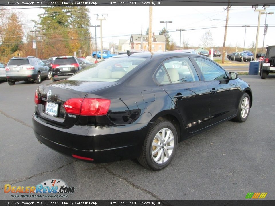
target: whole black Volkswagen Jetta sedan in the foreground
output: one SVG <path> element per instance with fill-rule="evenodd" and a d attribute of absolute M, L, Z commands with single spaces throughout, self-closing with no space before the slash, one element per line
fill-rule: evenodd
<path fill-rule="evenodd" d="M 105 163 L 137 158 L 166 167 L 178 142 L 252 105 L 248 83 L 201 55 L 134 53 L 108 58 L 35 92 L 34 134 L 74 158 Z"/>

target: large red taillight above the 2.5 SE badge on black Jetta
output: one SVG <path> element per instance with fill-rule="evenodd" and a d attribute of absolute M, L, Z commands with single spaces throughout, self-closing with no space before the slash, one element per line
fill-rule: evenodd
<path fill-rule="evenodd" d="M 106 115 L 111 100 L 97 98 L 72 98 L 64 103 L 67 113 L 84 116 Z"/>

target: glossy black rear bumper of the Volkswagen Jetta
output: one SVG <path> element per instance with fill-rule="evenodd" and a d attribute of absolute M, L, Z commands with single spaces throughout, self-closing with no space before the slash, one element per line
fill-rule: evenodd
<path fill-rule="evenodd" d="M 92 158 L 91 163 L 134 159 L 140 155 L 148 124 L 125 126 L 73 126 L 62 129 L 33 117 L 34 134 L 46 146 L 72 157 Z M 92 131 L 93 130 L 93 131 Z M 94 134 L 94 135 L 89 135 Z M 97 134 L 97 135 L 95 135 Z"/>

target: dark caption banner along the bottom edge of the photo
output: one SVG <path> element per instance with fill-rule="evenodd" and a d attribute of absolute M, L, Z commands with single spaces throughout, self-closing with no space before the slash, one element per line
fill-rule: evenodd
<path fill-rule="evenodd" d="M 0 200 L 0 205 L 274 206 L 275 200 Z"/>

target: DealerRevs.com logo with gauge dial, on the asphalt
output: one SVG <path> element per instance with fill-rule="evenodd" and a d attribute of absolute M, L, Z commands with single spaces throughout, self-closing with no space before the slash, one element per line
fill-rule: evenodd
<path fill-rule="evenodd" d="M 4 193 L 11 193 L 12 198 L 66 198 L 74 193 L 74 187 L 68 187 L 60 179 L 48 179 L 36 186 L 4 186 Z"/>

